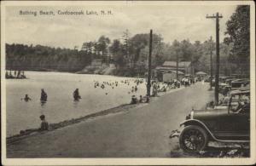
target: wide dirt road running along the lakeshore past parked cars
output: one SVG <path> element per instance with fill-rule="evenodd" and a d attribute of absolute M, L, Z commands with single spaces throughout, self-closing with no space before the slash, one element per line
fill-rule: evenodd
<path fill-rule="evenodd" d="M 7 146 L 7 157 L 177 157 L 169 139 L 191 108 L 210 100 L 208 84 L 196 83 L 129 112 L 97 117 Z"/>

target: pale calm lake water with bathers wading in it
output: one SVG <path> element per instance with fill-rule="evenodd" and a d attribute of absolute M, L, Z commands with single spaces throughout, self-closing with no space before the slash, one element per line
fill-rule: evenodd
<path fill-rule="evenodd" d="M 129 103 L 131 95 L 146 94 L 146 83 L 138 85 L 131 93 L 135 78 L 102 75 L 83 75 L 64 72 L 25 72 L 28 79 L 6 80 L 7 136 L 16 135 L 20 130 L 39 128 L 39 116 L 44 114 L 49 123 L 82 117 L 114 106 Z M 121 81 L 130 80 L 130 85 Z M 118 87 L 95 88 L 99 83 L 118 81 Z M 41 89 L 48 94 L 44 106 L 40 103 Z M 82 99 L 73 101 L 73 91 L 79 89 Z M 108 93 L 108 94 L 106 94 Z M 20 100 L 28 94 L 28 102 Z"/>

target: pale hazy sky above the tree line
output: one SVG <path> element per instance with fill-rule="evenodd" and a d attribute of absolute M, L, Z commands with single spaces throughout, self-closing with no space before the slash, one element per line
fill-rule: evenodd
<path fill-rule="evenodd" d="M 53 11 L 55 15 L 20 14 L 22 11 Z M 61 15 L 57 11 L 84 11 L 84 15 Z M 112 14 L 100 14 L 101 10 Z M 226 21 L 236 5 L 73 5 L 73 6 L 9 6 L 5 9 L 6 43 L 41 44 L 50 47 L 73 49 L 82 43 L 96 41 L 102 35 L 121 39 L 128 29 L 130 37 L 137 33 L 160 34 L 165 43 L 177 39 L 204 42 L 215 40 L 214 19 L 206 15 L 223 15 L 220 19 L 220 41 L 224 38 Z M 96 11 L 96 14 L 86 14 Z"/>

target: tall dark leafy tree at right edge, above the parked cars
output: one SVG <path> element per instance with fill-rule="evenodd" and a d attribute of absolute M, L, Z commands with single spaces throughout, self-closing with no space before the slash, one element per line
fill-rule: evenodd
<path fill-rule="evenodd" d="M 230 20 L 226 22 L 228 37 L 224 38 L 224 43 L 231 44 L 229 60 L 236 63 L 241 74 L 249 72 L 250 62 L 250 6 L 240 5 L 236 8 L 236 13 L 232 14 Z"/>

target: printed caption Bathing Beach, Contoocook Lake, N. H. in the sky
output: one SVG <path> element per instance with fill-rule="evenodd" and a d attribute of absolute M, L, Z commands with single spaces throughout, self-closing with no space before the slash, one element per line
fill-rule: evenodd
<path fill-rule="evenodd" d="M 111 10 L 19 10 L 20 15 L 111 15 Z"/>

